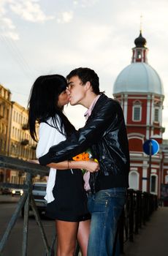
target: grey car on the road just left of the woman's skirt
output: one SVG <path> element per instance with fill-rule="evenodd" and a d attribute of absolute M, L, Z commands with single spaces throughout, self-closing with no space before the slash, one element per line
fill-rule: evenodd
<path fill-rule="evenodd" d="M 33 184 L 32 194 L 34 196 L 34 201 L 36 203 L 39 214 L 45 213 L 46 211 L 47 201 L 44 198 L 46 195 L 46 187 L 47 187 L 47 182 L 36 182 Z M 30 211 L 32 210 L 31 206 L 29 210 Z M 22 208 L 22 217 L 23 216 L 24 216 L 24 207 Z"/>

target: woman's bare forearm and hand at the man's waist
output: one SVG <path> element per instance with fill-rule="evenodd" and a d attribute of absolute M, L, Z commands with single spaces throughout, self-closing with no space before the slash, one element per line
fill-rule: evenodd
<path fill-rule="evenodd" d="M 66 169 L 85 169 L 91 173 L 99 170 L 99 163 L 93 160 L 88 161 L 64 161 L 58 163 L 50 163 L 47 165 L 50 168 L 66 170 Z"/>

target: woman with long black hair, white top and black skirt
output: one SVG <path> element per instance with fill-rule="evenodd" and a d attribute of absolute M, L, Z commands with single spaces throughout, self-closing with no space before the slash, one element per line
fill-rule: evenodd
<path fill-rule="evenodd" d="M 61 75 L 44 75 L 35 80 L 28 101 L 28 126 L 31 137 L 37 141 L 37 158 L 50 146 L 65 140 L 75 128 L 64 115 L 69 102 L 66 79 Z M 93 161 L 52 163 L 47 181 L 47 216 L 56 219 L 57 256 L 72 256 L 76 239 L 83 256 L 87 255 L 90 214 L 83 189 L 83 173 L 79 168 L 94 172 L 99 164 Z"/>

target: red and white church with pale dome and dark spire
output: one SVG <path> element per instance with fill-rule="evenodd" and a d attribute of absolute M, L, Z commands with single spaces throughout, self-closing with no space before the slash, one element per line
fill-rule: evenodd
<path fill-rule="evenodd" d="M 131 189 L 161 197 L 161 187 L 168 184 L 168 144 L 163 140 L 162 110 L 164 86 L 158 72 L 148 64 L 146 39 L 134 40 L 131 64 L 118 75 L 113 97 L 120 102 L 129 139 Z M 156 140 L 159 151 L 152 157 L 145 154 L 146 140 Z"/>

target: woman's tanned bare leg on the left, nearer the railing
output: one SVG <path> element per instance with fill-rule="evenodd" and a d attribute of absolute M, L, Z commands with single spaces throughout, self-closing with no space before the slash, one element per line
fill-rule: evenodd
<path fill-rule="evenodd" d="M 56 256 L 73 256 L 75 253 L 79 222 L 56 220 L 57 252 Z"/>

